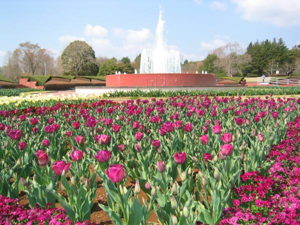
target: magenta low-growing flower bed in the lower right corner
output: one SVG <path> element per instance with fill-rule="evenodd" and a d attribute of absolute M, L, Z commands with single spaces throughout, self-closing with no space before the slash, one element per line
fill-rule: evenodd
<path fill-rule="evenodd" d="M 233 191 L 233 207 L 225 208 L 220 224 L 299 224 L 300 220 L 300 118 L 288 123 L 287 139 L 268 155 L 274 164 L 263 175 L 241 175 Z"/>

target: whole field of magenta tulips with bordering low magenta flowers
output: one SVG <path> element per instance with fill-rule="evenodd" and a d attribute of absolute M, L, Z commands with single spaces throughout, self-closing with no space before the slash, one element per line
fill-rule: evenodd
<path fill-rule="evenodd" d="M 299 224 L 300 98 L 51 102 L 1 105 L 0 224 Z"/>

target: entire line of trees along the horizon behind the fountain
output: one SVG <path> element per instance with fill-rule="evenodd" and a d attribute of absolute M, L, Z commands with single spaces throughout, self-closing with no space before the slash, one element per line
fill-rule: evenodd
<path fill-rule="evenodd" d="M 192 66 L 189 66 L 192 65 Z M 194 67 L 199 72 L 218 76 L 260 76 L 277 70 L 285 75 L 300 73 L 300 44 L 289 49 L 282 38 L 270 41 L 250 42 L 246 49 L 230 42 L 213 49 L 202 63 L 182 63 L 184 68 Z M 201 65 L 200 65 L 201 64 Z M 115 71 L 133 73 L 139 70 L 140 54 L 133 61 L 129 57 L 95 57 L 95 52 L 84 41 L 70 42 L 56 58 L 53 53 L 38 44 L 20 43 L 12 52 L 7 51 L 0 75 L 17 80 L 20 75 L 107 75 Z"/>

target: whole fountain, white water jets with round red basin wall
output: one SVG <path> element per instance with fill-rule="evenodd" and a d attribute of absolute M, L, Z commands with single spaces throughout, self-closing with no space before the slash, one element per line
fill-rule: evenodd
<path fill-rule="evenodd" d="M 179 51 L 168 47 L 164 37 L 164 20 L 159 10 L 152 48 L 143 49 L 140 73 L 106 75 L 106 87 L 198 87 L 215 86 L 215 74 L 181 73 Z"/>

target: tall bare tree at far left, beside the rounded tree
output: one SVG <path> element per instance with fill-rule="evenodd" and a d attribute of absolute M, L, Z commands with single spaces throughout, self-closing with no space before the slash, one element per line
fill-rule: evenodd
<path fill-rule="evenodd" d="M 28 66 L 29 70 L 32 72 L 32 75 L 34 75 L 34 72 L 40 63 L 40 46 L 38 44 L 32 44 L 27 41 L 24 43 L 20 43 L 18 50 L 23 59 L 24 65 Z"/>

